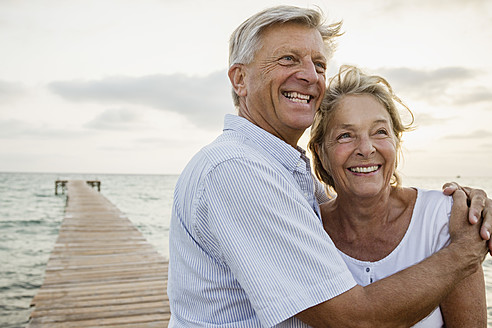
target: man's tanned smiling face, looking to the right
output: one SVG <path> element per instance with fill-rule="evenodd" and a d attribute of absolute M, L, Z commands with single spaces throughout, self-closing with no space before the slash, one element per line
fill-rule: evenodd
<path fill-rule="evenodd" d="M 244 67 L 246 96 L 239 114 L 295 146 L 325 93 L 324 43 L 316 29 L 295 23 L 270 26 L 261 40 Z"/>

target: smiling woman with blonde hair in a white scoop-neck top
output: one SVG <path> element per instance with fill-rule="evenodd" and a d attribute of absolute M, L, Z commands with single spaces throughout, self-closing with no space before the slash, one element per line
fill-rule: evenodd
<path fill-rule="evenodd" d="M 321 205 L 325 230 L 362 286 L 449 241 L 452 198 L 402 187 L 396 173 L 401 136 L 410 128 L 397 105 L 411 114 L 385 79 L 344 66 L 330 81 L 308 145 L 316 175 L 337 194 Z M 485 303 L 480 270 L 415 327 L 486 327 Z"/>

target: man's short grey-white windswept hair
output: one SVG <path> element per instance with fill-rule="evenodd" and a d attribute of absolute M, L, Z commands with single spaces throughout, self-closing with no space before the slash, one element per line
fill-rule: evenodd
<path fill-rule="evenodd" d="M 229 42 L 229 68 L 235 64 L 249 64 L 261 47 L 261 33 L 275 24 L 297 23 L 315 28 L 325 42 L 326 57 L 335 50 L 334 39 L 341 35 L 341 22 L 325 25 L 322 11 L 294 6 L 277 6 L 265 9 L 245 20 L 232 33 Z M 234 105 L 239 106 L 239 97 L 232 92 Z"/>

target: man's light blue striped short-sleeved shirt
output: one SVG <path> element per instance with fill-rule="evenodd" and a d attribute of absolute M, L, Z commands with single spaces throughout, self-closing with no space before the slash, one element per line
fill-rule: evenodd
<path fill-rule="evenodd" d="M 297 313 L 354 287 L 316 186 L 303 152 L 227 115 L 176 185 L 169 327 L 306 327 Z"/>

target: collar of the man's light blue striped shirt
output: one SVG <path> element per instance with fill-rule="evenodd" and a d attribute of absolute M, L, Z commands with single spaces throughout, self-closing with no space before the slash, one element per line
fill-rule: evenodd
<path fill-rule="evenodd" d="M 254 144 L 266 150 L 290 172 L 305 172 L 310 169 L 309 159 L 304 149 L 299 146 L 293 148 L 282 139 L 263 130 L 244 117 L 227 114 L 224 119 L 224 131 L 226 130 L 233 130 L 244 135 Z"/>

